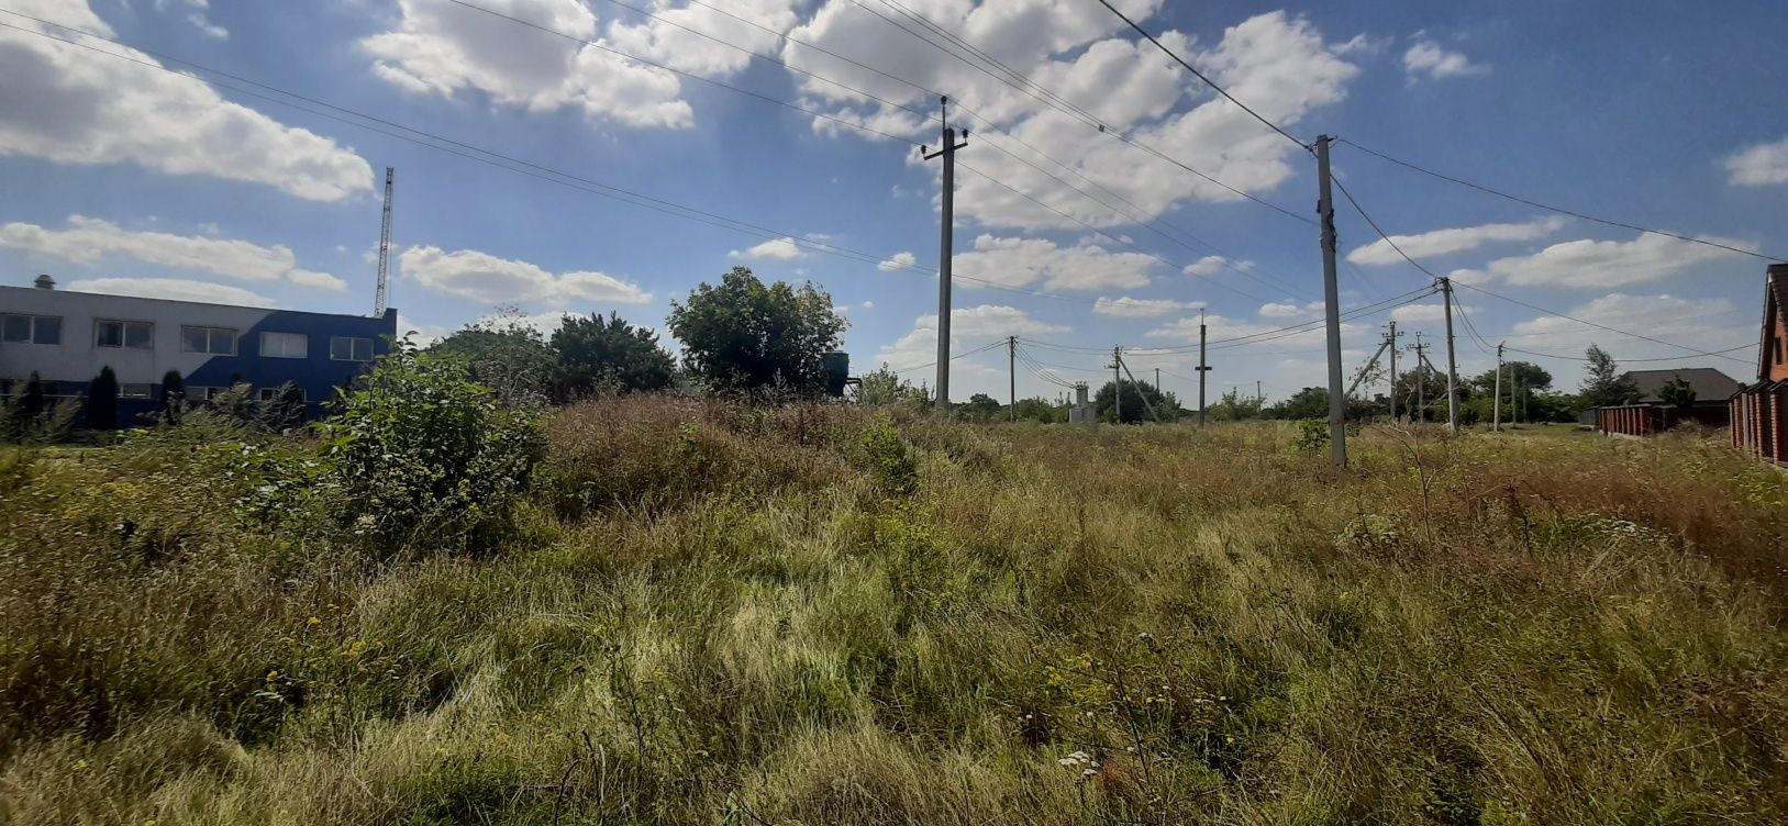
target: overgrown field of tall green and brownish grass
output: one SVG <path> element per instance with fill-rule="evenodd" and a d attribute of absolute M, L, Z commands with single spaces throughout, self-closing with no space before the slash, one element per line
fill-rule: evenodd
<path fill-rule="evenodd" d="M 477 554 L 0 456 L 0 821 L 1788 819 L 1788 477 L 1722 434 L 547 431 Z"/>

